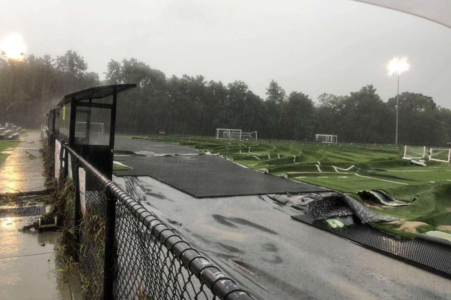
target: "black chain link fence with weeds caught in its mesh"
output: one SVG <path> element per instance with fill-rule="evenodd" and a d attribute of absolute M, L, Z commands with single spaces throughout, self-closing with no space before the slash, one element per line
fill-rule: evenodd
<path fill-rule="evenodd" d="M 54 151 L 57 138 L 47 134 Z M 65 154 L 55 167 L 66 176 L 70 165 L 76 183 L 74 216 L 66 216 L 65 222 L 76 229 L 86 299 L 252 299 L 176 231 L 61 145 Z M 86 172 L 84 212 L 79 168 Z"/>

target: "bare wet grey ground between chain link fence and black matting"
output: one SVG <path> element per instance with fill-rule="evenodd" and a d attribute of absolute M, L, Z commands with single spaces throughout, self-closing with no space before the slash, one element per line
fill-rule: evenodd
<path fill-rule="evenodd" d="M 291 220 L 303 197 L 199 199 L 150 177 L 114 180 L 257 298 L 451 298 L 446 278 Z"/>

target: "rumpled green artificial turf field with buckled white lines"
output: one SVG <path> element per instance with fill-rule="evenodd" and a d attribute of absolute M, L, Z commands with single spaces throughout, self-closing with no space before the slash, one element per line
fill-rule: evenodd
<path fill-rule="evenodd" d="M 387 233 L 413 238 L 427 231 L 451 233 L 451 167 L 402 159 L 404 148 L 375 144 L 326 144 L 275 140 L 224 140 L 204 137 L 137 137 L 217 154 L 248 168 L 346 193 L 372 211 L 397 217 L 371 224 Z M 362 201 L 357 192 L 382 190 L 405 206 Z"/>

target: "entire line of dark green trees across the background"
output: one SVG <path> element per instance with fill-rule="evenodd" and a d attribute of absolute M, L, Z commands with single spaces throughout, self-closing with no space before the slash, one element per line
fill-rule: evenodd
<path fill-rule="evenodd" d="M 111 60 L 102 81 L 87 69 L 83 57 L 70 50 L 56 59 L 0 59 L 0 123 L 37 127 L 66 93 L 136 83 L 137 88 L 119 97 L 117 132 L 213 136 L 215 128 L 231 128 L 257 131 L 267 139 L 311 141 L 315 134 L 334 134 L 341 142 L 395 140 L 396 95 L 384 102 L 373 85 L 349 95 L 324 93 L 315 103 L 301 91 L 286 93 L 274 80 L 263 99 L 241 80 L 223 84 L 202 75 L 167 77 L 134 58 Z M 450 135 L 449 109 L 421 93 L 400 94 L 399 143 L 444 146 Z"/>

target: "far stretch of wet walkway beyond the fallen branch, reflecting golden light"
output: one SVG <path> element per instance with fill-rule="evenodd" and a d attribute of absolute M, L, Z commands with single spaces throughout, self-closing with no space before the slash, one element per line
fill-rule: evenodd
<path fill-rule="evenodd" d="M 45 190 L 43 165 L 40 159 L 41 148 L 40 131 L 33 130 L 21 135 L 21 140 L 31 143 L 18 143 L 13 150 L 6 150 L 10 154 L 0 165 L 0 194 L 19 191 Z"/>

